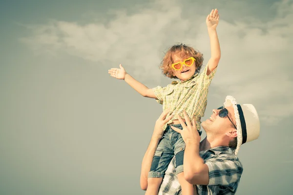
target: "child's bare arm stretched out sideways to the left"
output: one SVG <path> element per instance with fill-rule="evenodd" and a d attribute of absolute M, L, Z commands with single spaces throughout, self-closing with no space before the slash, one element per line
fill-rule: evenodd
<path fill-rule="evenodd" d="M 126 73 L 125 69 L 120 64 L 120 68 L 111 68 L 108 70 L 108 73 L 117 79 L 123 79 L 126 83 L 128 83 L 135 91 L 137 91 L 140 95 L 147 98 L 157 98 L 153 89 L 149 89 L 139 81 L 135 80 L 128 73 Z"/>

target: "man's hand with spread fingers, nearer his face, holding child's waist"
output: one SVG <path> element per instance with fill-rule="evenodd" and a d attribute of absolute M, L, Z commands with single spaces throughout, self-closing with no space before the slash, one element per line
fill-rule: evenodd
<path fill-rule="evenodd" d="M 181 134 L 184 142 L 186 144 L 199 144 L 200 142 L 200 136 L 198 134 L 198 131 L 197 131 L 197 128 L 196 128 L 196 121 L 195 121 L 195 118 L 192 119 L 192 123 L 190 122 L 189 120 L 189 117 L 187 115 L 187 113 L 184 111 L 183 112 L 183 115 L 184 115 L 184 118 L 185 118 L 185 121 L 186 121 L 186 124 L 185 122 L 182 120 L 182 118 L 180 116 L 178 116 L 178 120 L 180 122 L 180 124 L 182 125 L 183 127 L 183 130 L 180 130 L 174 126 L 171 126 L 171 128 L 178 132 L 179 134 Z"/>

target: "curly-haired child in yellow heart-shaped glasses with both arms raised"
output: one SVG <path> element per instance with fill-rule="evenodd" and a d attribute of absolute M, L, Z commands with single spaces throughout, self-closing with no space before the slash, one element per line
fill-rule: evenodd
<path fill-rule="evenodd" d="M 207 16 L 211 58 L 203 73 L 199 74 L 202 66 L 202 54 L 193 48 L 180 44 L 172 46 L 166 53 L 161 69 L 168 78 L 178 78 L 180 81 L 173 81 L 167 87 L 147 88 L 130 75 L 120 64 L 120 69 L 112 68 L 109 74 L 118 79 L 124 79 L 133 89 L 144 97 L 155 98 L 163 104 L 163 110 L 170 109 L 167 117 L 172 118 L 164 126 L 164 136 L 160 140 L 152 160 L 150 172 L 147 179 L 146 195 L 157 195 L 163 180 L 167 166 L 175 155 L 176 174 L 182 188 L 183 195 L 193 195 L 193 186 L 184 179 L 183 156 L 185 143 L 180 134 L 175 132 L 171 126 L 181 128 L 178 115 L 184 118 L 183 111 L 186 111 L 189 119 L 196 118 L 196 126 L 200 130 L 200 119 L 204 116 L 207 106 L 208 88 L 213 78 L 216 67 L 220 60 L 221 52 L 217 37 L 216 27 L 218 25 L 218 10 L 211 10 Z M 201 132 L 199 131 L 201 134 Z"/>

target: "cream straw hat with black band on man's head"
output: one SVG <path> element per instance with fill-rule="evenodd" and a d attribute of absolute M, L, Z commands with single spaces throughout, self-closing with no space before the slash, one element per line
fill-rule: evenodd
<path fill-rule="evenodd" d="M 240 145 L 257 139 L 260 132 L 259 117 L 252 104 L 239 105 L 232 96 L 227 96 L 224 106 L 233 106 L 237 127 L 237 147 L 234 151 L 238 154 Z"/>

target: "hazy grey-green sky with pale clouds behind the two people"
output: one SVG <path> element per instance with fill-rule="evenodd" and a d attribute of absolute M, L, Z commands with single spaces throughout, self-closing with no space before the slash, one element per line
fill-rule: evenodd
<path fill-rule="evenodd" d="M 213 8 L 221 59 L 203 120 L 227 95 L 252 103 L 261 130 L 240 148 L 237 194 L 291 194 L 293 0 L 2 0 L 0 194 L 144 195 L 162 106 L 107 71 L 122 63 L 149 88 L 166 86 L 159 64 L 181 42 L 206 65 Z"/>

